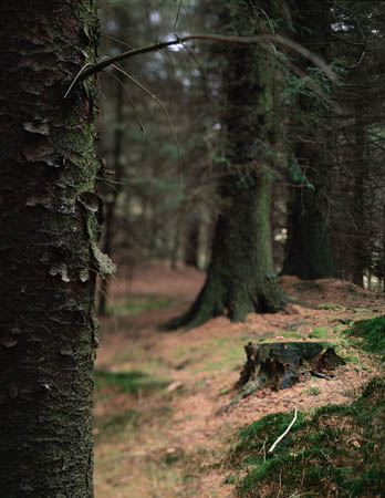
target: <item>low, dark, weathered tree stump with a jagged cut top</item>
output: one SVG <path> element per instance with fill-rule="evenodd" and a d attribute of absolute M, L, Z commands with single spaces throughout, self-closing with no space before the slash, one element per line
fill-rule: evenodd
<path fill-rule="evenodd" d="M 244 351 L 247 362 L 236 384 L 244 394 L 260 387 L 287 390 L 309 375 L 327 378 L 345 363 L 327 342 L 249 342 Z"/>

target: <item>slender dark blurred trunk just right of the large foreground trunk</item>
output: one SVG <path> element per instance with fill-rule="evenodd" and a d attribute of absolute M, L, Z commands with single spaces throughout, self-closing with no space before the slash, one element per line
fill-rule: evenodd
<path fill-rule="evenodd" d="M 117 83 L 117 95 L 116 95 L 116 108 L 115 108 L 115 136 L 114 136 L 114 172 L 115 172 L 115 184 L 112 191 L 112 199 L 106 203 L 106 212 L 104 220 L 104 245 L 103 251 L 111 256 L 113 250 L 113 237 L 114 237 L 114 222 L 115 222 L 115 210 L 116 200 L 121 191 L 121 179 L 123 174 L 123 167 L 121 162 L 122 145 L 123 145 L 123 114 L 124 114 L 124 95 L 123 86 Z M 108 283 L 110 278 L 106 276 L 101 281 L 101 292 L 98 298 L 98 313 L 104 314 L 106 312 L 107 295 L 108 295 Z"/>

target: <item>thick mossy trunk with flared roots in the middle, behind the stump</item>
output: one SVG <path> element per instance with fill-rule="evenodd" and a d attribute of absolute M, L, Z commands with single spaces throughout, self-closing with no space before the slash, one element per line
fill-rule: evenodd
<path fill-rule="evenodd" d="M 231 4 L 230 4 L 231 3 Z M 249 34 L 254 9 L 229 2 L 225 17 L 237 34 Z M 283 307 L 272 260 L 270 201 L 273 165 L 271 60 L 252 46 L 223 46 L 226 165 L 219 185 L 218 217 L 207 279 L 190 310 L 166 328 L 196 326 L 227 314 L 241 321 L 250 312 Z"/>

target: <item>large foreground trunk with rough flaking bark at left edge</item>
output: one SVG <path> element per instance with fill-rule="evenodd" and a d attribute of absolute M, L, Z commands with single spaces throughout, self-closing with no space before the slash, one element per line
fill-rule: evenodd
<path fill-rule="evenodd" d="M 91 498 L 94 0 L 0 3 L 0 494 Z"/>

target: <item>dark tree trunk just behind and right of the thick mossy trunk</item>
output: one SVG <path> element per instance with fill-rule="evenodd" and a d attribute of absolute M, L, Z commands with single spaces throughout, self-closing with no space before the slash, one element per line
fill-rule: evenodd
<path fill-rule="evenodd" d="M 299 7 L 291 4 L 292 23 L 296 42 L 329 60 L 327 35 L 331 30 L 327 3 L 320 0 Z M 303 62 L 300 62 L 300 65 Z M 309 65 L 309 64 L 308 64 Z M 304 66 L 303 71 L 313 69 Z M 322 81 L 321 81 L 322 82 Z M 293 144 L 299 166 L 312 188 L 294 188 L 289 216 L 289 237 L 282 274 L 295 274 L 302 279 L 335 277 L 336 267 L 331 239 L 331 199 L 327 196 L 325 136 L 322 126 L 323 107 L 316 95 L 299 93 L 295 111 L 300 139 Z M 314 125 L 315 123 L 315 125 Z"/>

